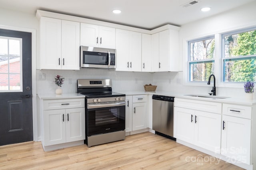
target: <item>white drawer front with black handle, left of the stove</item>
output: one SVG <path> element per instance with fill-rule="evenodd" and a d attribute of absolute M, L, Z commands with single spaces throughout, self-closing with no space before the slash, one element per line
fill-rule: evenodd
<path fill-rule="evenodd" d="M 44 100 L 44 110 L 84 107 L 84 98 Z"/>

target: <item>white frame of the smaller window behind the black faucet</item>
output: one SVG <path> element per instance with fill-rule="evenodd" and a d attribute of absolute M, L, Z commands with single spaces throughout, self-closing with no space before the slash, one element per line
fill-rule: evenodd
<path fill-rule="evenodd" d="M 203 41 L 203 40 L 208 40 L 208 39 L 216 39 L 215 38 L 215 34 L 214 35 L 209 35 L 209 36 L 206 36 L 206 37 L 201 37 L 201 38 L 198 38 L 198 39 L 193 39 L 193 40 L 190 40 L 190 41 L 187 41 L 187 47 L 188 47 L 188 55 L 187 55 L 187 61 L 188 61 L 188 64 L 187 64 L 187 82 L 188 83 L 205 83 L 207 81 L 191 81 L 191 73 L 190 73 L 190 64 L 191 63 L 194 63 L 194 64 L 198 64 L 198 63 L 215 63 L 215 60 L 216 60 L 216 57 L 214 56 L 213 59 L 203 59 L 203 60 L 197 60 L 197 61 L 191 61 L 191 43 L 194 43 L 194 42 L 198 42 L 198 41 Z M 214 47 L 214 51 L 216 49 L 216 41 L 215 41 L 215 47 Z M 215 52 L 214 52 L 215 53 Z M 215 53 L 216 55 L 216 53 Z M 215 64 L 214 64 L 214 70 L 215 69 Z"/>

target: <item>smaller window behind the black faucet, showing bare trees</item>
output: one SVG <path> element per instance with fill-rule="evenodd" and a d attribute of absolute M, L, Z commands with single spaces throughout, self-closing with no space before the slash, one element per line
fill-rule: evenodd
<path fill-rule="evenodd" d="M 189 81 L 208 81 L 214 74 L 214 36 L 188 42 Z"/>

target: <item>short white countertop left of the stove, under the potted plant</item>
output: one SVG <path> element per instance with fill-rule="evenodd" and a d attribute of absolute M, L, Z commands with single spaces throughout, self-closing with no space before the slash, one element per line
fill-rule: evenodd
<path fill-rule="evenodd" d="M 78 93 L 63 93 L 63 94 L 37 94 L 39 99 L 71 99 L 71 98 L 85 98 L 84 95 Z"/>

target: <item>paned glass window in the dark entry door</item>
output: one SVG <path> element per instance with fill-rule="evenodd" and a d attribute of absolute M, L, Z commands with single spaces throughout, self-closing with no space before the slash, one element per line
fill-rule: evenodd
<path fill-rule="evenodd" d="M 21 90 L 22 39 L 0 36 L 0 92 Z"/>

